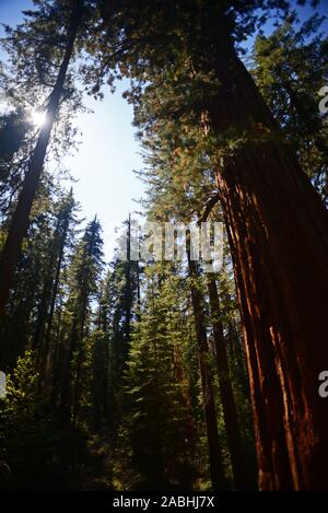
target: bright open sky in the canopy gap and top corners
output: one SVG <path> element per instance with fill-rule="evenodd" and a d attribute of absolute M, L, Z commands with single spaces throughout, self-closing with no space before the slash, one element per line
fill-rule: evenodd
<path fill-rule="evenodd" d="M 15 25 L 22 19 L 21 11 L 32 4 L 32 0 L 0 0 L 0 23 Z M 328 0 L 321 0 L 321 13 L 328 14 L 327 5 Z M 300 8 L 302 19 L 309 12 L 308 7 Z M 325 27 L 327 30 L 327 23 Z M 83 132 L 82 143 L 79 152 L 63 162 L 78 179 L 73 188 L 82 215 L 90 220 L 97 214 L 102 222 L 107 259 L 110 259 L 115 246 L 115 228 L 121 225 L 129 212 L 139 210 L 133 199 L 140 198 L 143 191 L 141 182 L 132 172 L 140 170 L 142 162 L 131 126 L 132 107 L 121 97 L 124 89 L 122 82 L 115 94 L 105 90 L 102 102 L 85 96 L 84 105 L 93 113 L 78 116 L 77 124 Z"/>

